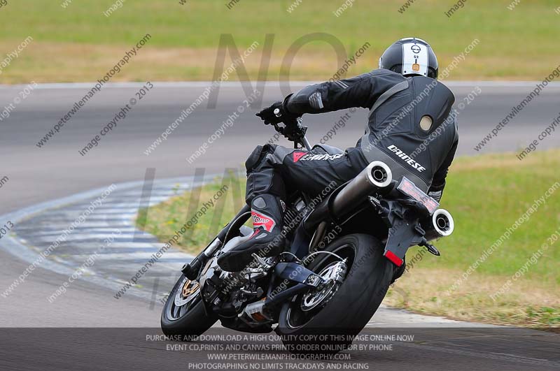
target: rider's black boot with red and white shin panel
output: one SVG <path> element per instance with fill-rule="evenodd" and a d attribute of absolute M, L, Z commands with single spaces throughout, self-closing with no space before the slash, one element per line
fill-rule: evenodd
<path fill-rule="evenodd" d="M 229 272 L 239 272 L 260 257 L 276 256 L 283 251 L 286 236 L 282 233 L 284 206 L 279 197 L 263 194 L 253 198 L 253 235 L 218 257 L 218 265 Z"/>

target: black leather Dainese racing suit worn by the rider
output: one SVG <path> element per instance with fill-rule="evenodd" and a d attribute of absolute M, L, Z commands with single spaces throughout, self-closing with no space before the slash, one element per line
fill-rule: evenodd
<path fill-rule="evenodd" d="M 325 145 L 309 152 L 258 146 L 246 161 L 246 201 L 260 194 L 282 199 L 294 189 L 319 194 L 332 181 L 343 184 L 376 160 L 387 163 L 395 179 L 406 175 L 423 191 L 437 194 L 458 144 L 456 123 L 449 115 L 454 100 L 441 82 L 385 69 L 304 87 L 284 100 L 288 112 L 368 108 L 364 136 L 344 152 Z"/>

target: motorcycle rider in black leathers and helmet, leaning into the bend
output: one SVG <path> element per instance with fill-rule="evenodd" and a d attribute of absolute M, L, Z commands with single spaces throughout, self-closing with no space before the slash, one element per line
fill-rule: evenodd
<path fill-rule="evenodd" d="M 307 151 L 269 144 L 253 150 L 245 165 L 246 202 L 251 205 L 254 232 L 222 254 L 218 265 L 235 272 L 251 263 L 255 253 L 276 256 L 282 252 L 286 194 L 295 189 L 320 194 L 333 180 L 344 184 L 356 177 L 371 161 L 384 161 L 395 179 L 405 175 L 440 201 L 458 133 L 454 117 L 449 115 L 455 97 L 437 82 L 437 72 L 437 58 L 426 41 L 402 38 L 381 55 L 379 69 L 304 87 L 258 112 L 265 124 L 278 124 L 304 113 L 357 107 L 370 110 L 365 134 L 356 147 L 346 151 L 328 145 Z M 275 115 L 276 109 L 280 117 Z M 426 140 L 429 145 L 419 151 Z"/>

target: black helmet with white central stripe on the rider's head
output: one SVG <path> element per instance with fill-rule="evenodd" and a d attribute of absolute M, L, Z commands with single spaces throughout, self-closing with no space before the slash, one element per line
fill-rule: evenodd
<path fill-rule="evenodd" d="M 420 38 L 401 38 L 393 43 L 379 58 L 379 68 L 437 79 L 437 58 L 430 44 Z"/>

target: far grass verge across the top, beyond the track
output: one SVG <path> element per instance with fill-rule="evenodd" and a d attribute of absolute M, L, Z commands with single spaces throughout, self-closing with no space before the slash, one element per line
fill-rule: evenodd
<path fill-rule="evenodd" d="M 267 80 L 288 75 L 282 68 L 286 51 L 302 36 L 314 33 L 335 36 L 346 57 L 370 43 L 347 75 L 370 71 L 381 52 L 405 36 L 430 41 L 440 66 L 449 65 L 479 39 L 475 50 L 452 71 L 453 80 L 542 80 L 558 65 L 549 48 L 556 44 L 551 30 L 557 29 L 559 20 L 558 4 L 552 0 L 524 1 L 514 10 L 507 9 L 510 0 L 469 0 L 451 17 L 445 13 L 454 3 L 436 0 L 412 3 L 405 10 L 404 0 L 353 1 L 338 14 L 343 0 L 303 1 L 291 12 L 292 0 L 240 0 L 231 9 L 223 0 L 184 5 L 135 0 L 123 2 L 107 17 L 104 12 L 113 3 L 8 1 L 0 10 L 1 59 L 27 36 L 34 40 L 3 68 L 1 82 L 97 80 L 146 33 L 153 36 L 151 41 L 113 81 L 211 80 L 222 34 L 231 34 L 241 51 L 255 41 L 260 44 L 246 60 L 251 79 L 258 76 L 267 34 L 272 42 Z M 312 41 L 297 51 L 289 76 L 328 80 L 338 67 L 332 43 Z"/>

